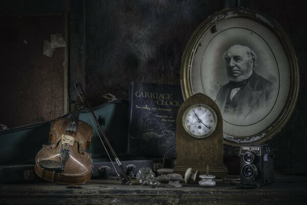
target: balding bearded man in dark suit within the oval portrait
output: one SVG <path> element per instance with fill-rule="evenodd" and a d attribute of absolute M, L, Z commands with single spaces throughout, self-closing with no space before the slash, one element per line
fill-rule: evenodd
<path fill-rule="evenodd" d="M 223 55 L 229 83 L 220 88 L 215 102 L 223 119 L 248 125 L 265 117 L 274 106 L 277 88 L 255 71 L 255 52 L 247 46 L 231 46 Z"/>

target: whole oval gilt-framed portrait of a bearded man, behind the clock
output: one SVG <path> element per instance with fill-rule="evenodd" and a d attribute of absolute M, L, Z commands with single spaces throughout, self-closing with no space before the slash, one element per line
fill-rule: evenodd
<path fill-rule="evenodd" d="M 220 108 L 224 144 L 272 138 L 289 120 L 298 96 L 293 46 L 272 19 L 226 9 L 193 32 L 181 62 L 184 99 L 204 93 Z"/>

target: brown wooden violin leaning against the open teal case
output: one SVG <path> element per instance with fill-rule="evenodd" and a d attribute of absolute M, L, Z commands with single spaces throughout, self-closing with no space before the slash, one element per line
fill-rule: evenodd
<path fill-rule="evenodd" d="M 60 118 L 52 122 L 49 145 L 35 157 L 36 174 L 47 181 L 61 185 L 81 185 L 90 180 L 93 169 L 90 148 L 93 128 L 79 120 L 82 97 L 77 96 L 70 118 Z"/>

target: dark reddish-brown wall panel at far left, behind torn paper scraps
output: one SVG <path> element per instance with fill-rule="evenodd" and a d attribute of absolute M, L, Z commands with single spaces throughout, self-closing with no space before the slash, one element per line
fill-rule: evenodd
<path fill-rule="evenodd" d="M 50 34 L 65 36 L 68 1 L 0 1 L 0 124 L 37 124 L 65 114 L 66 48 L 43 55 Z"/>

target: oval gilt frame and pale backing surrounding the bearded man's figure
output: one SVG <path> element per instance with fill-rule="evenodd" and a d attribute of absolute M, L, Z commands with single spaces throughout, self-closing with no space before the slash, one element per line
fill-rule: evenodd
<path fill-rule="evenodd" d="M 274 20 L 250 9 L 225 9 L 196 28 L 186 45 L 181 61 L 184 99 L 201 92 L 215 100 L 228 81 L 222 55 L 233 45 L 252 48 L 259 64 L 255 72 L 276 88 L 272 106 L 263 113 L 256 110 L 248 120 L 222 112 L 224 144 L 239 147 L 264 142 L 286 125 L 298 97 L 299 68 L 290 39 Z"/>

